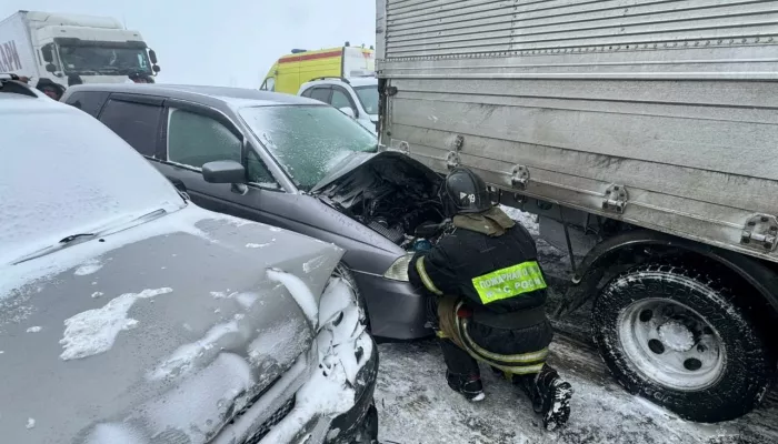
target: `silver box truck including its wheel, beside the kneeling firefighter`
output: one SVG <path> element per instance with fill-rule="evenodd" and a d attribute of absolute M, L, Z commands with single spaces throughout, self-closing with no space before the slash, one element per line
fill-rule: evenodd
<path fill-rule="evenodd" d="M 717 422 L 776 373 L 778 1 L 377 0 L 380 144 L 540 216 L 556 315 Z"/>

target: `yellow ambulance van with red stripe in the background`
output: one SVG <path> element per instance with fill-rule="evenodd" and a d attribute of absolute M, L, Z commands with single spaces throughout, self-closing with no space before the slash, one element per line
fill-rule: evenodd
<path fill-rule="evenodd" d="M 262 85 L 265 91 L 297 94 L 302 83 L 325 78 L 375 75 L 376 56 L 372 47 L 350 47 L 307 51 L 295 49 L 270 68 Z"/>

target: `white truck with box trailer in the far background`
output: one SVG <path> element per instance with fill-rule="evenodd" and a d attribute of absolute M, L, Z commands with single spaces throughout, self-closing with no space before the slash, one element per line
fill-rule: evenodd
<path fill-rule="evenodd" d="M 159 70 L 141 34 L 116 19 L 19 11 L 0 21 L 0 72 L 31 84 L 120 83 Z"/>

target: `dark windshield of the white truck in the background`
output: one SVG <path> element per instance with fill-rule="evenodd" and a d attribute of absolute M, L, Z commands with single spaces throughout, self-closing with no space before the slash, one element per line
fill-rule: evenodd
<path fill-rule="evenodd" d="M 146 50 L 140 48 L 61 46 L 59 54 L 67 73 L 151 74 Z"/>

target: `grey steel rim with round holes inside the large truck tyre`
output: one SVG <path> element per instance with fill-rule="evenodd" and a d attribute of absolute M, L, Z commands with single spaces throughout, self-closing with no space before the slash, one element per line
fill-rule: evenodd
<path fill-rule="evenodd" d="M 726 349 L 716 329 L 685 304 L 645 299 L 619 315 L 627 357 L 646 379 L 668 389 L 699 391 L 724 375 Z"/>

